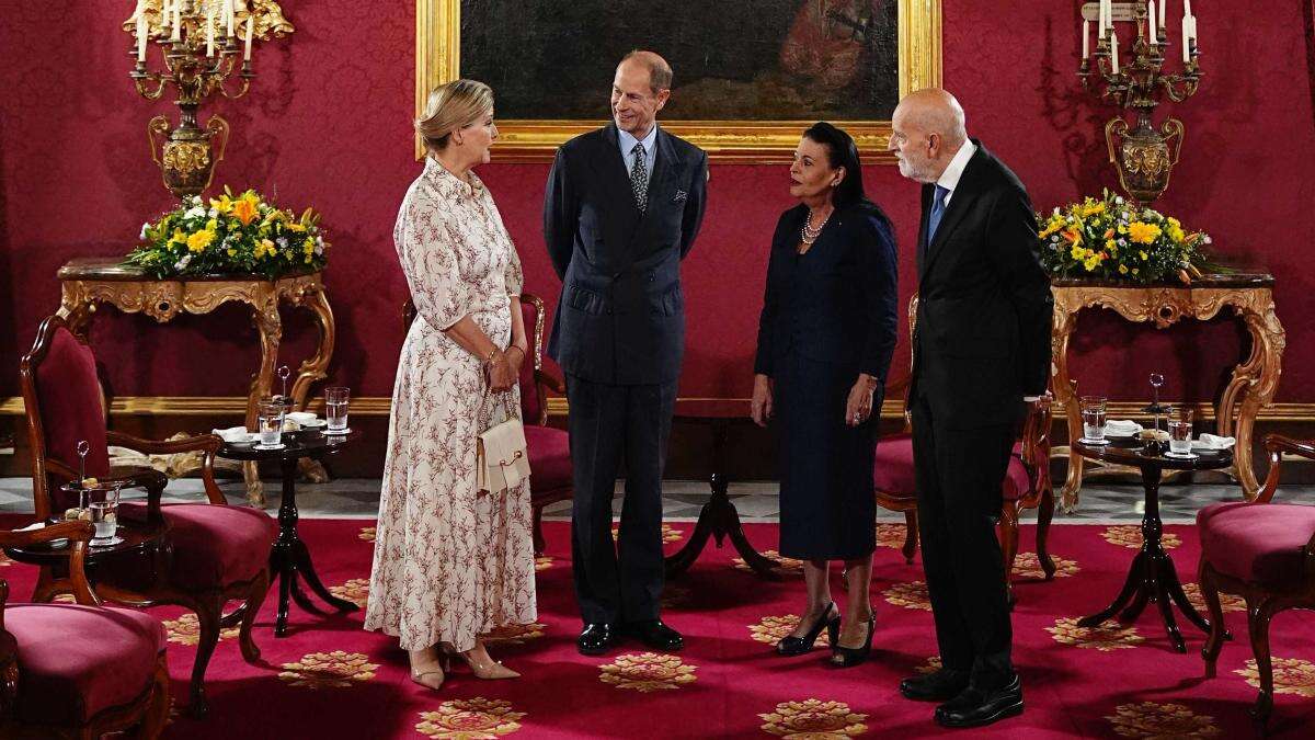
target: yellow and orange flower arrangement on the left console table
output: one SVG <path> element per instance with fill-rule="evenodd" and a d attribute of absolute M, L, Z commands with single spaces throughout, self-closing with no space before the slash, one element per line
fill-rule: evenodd
<path fill-rule="evenodd" d="M 125 265 L 155 278 L 179 275 L 252 274 L 266 278 L 320 270 L 329 244 L 320 230 L 320 215 L 306 208 L 299 219 L 276 208 L 254 190 L 204 201 L 183 199 L 175 211 L 142 224 L 143 242 Z"/>

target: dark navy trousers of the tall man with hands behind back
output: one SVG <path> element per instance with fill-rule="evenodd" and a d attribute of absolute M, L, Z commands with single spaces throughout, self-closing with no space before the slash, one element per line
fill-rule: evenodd
<path fill-rule="evenodd" d="M 613 386 L 567 375 L 571 404 L 571 557 L 584 621 L 658 619 L 663 586 L 661 474 L 676 383 Z M 626 498 L 611 539 L 621 462 Z"/>

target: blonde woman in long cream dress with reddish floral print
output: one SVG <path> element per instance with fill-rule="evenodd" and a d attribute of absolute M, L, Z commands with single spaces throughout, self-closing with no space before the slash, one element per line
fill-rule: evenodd
<path fill-rule="evenodd" d="M 412 679 L 438 689 L 446 656 L 480 678 L 514 678 L 480 635 L 535 620 L 530 486 L 479 492 L 479 435 L 519 417 L 526 356 L 521 262 L 471 171 L 497 138 L 493 92 L 434 90 L 416 129 L 429 155 L 393 240 L 418 316 L 393 388 L 366 629 L 398 637 Z"/>

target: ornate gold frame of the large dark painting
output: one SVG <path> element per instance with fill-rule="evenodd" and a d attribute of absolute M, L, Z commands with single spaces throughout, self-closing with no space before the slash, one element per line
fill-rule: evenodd
<path fill-rule="evenodd" d="M 694 0 L 697 1 L 697 0 Z M 898 95 L 940 86 L 942 0 L 896 0 Z M 888 26 L 889 28 L 889 26 Z M 462 76 L 462 0 L 416 0 L 416 113 L 434 86 Z M 514 63 L 509 61 L 509 63 Z M 677 76 L 680 67 L 673 62 Z M 497 92 L 494 84 L 494 92 Z M 601 87 L 601 86 L 600 86 Z M 602 88 L 605 90 L 605 88 Z M 606 99 L 592 120 L 498 119 L 497 162 L 546 162 L 567 140 L 605 124 Z M 663 126 L 709 153 L 714 162 L 788 162 L 807 120 L 665 120 Z M 890 121 L 832 120 L 848 130 L 865 162 L 892 163 Z M 417 158 L 423 154 L 417 141 Z"/>

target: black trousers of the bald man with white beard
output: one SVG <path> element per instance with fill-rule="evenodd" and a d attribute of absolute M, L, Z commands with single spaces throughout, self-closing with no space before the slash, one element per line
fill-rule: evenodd
<path fill-rule="evenodd" d="M 945 668 L 994 689 L 1014 673 L 1005 564 L 995 539 L 1014 425 L 952 429 L 913 406 L 922 565 Z"/>

